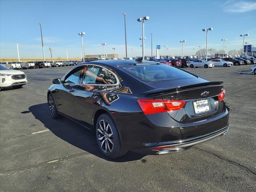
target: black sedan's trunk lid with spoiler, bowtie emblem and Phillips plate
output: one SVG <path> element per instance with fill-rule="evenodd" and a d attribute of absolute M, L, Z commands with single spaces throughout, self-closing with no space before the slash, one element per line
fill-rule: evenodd
<path fill-rule="evenodd" d="M 186 104 L 180 110 L 168 114 L 178 122 L 198 122 L 213 117 L 224 110 L 224 102 L 218 101 L 223 90 L 223 82 L 204 82 L 188 86 L 154 89 L 145 92 L 146 96 L 160 95 L 163 100 L 183 100 Z"/>

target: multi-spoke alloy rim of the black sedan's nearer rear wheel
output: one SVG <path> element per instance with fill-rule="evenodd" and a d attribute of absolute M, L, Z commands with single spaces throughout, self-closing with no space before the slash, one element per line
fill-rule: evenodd
<path fill-rule="evenodd" d="M 101 120 L 99 122 L 99 126 L 97 129 L 97 138 L 100 142 L 101 149 L 105 153 L 112 152 L 114 147 L 113 132 L 110 127 L 110 124 L 108 124 L 108 122 L 106 122 L 105 120 Z"/>

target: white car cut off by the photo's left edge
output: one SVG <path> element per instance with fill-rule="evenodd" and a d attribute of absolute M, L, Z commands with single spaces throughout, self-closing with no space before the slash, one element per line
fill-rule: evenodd
<path fill-rule="evenodd" d="M 7 87 L 22 87 L 26 84 L 27 78 L 24 72 L 10 70 L 7 67 L 0 65 L 0 88 Z"/>

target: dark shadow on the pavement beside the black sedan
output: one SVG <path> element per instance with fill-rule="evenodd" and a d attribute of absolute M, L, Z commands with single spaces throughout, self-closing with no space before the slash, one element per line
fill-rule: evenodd
<path fill-rule="evenodd" d="M 100 152 L 96 142 L 96 136 L 92 132 L 64 116 L 58 119 L 51 118 L 47 103 L 30 106 L 28 110 L 29 111 L 21 113 L 26 114 L 31 112 L 36 119 L 42 122 L 46 128 L 62 140 L 105 160 L 112 162 L 128 162 L 140 160 L 145 156 L 129 151 L 125 156 L 116 159 L 108 159 Z"/>

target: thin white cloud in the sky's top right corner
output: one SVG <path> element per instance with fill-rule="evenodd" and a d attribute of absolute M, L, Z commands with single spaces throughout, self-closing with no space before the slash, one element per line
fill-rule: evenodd
<path fill-rule="evenodd" d="M 255 1 L 226 1 L 222 5 L 224 12 L 229 13 L 244 13 L 256 10 Z"/>

